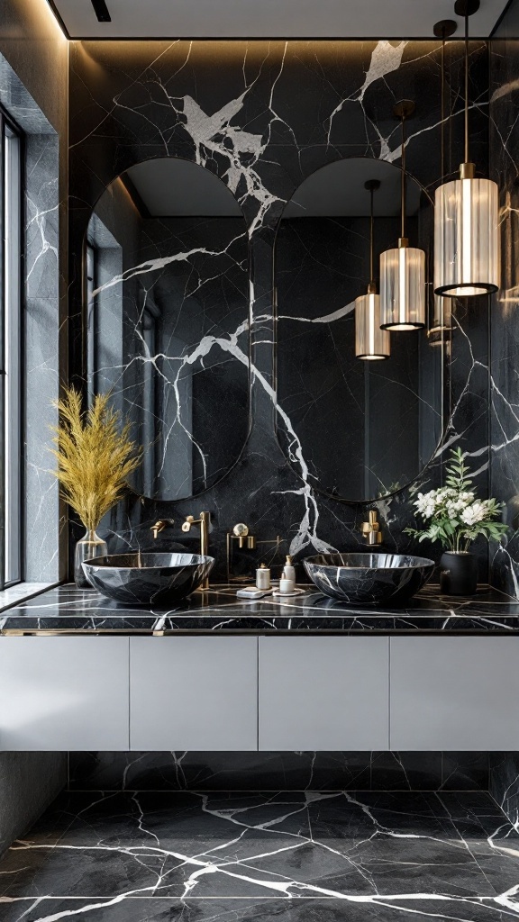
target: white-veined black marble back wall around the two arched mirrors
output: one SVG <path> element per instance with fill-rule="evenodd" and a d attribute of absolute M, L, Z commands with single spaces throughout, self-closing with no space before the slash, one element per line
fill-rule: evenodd
<path fill-rule="evenodd" d="M 463 160 L 459 99 L 462 47 L 448 49 L 453 120 L 447 170 Z M 287 200 L 309 173 L 350 156 L 400 162 L 396 100 L 416 100 L 407 164 L 429 191 L 440 172 L 440 48 L 409 41 L 74 42 L 70 52 L 70 319 L 71 361 L 81 371 L 82 249 L 91 208 L 132 164 L 172 155 L 220 176 L 246 216 L 252 254 L 252 428 L 229 475 L 194 500 L 121 504 L 105 529 L 112 548 L 151 544 L 161 516 L 211 512 L 211 550 L 224 573 L 225 532 L 245 521 L 263 539 L 280 535 L 298 556 L 353 549 L 367 505 L 337 502 L 299 473 L 277 442 L 273 375 L 272 247 Z M 478 169 L 488 169 L 487 50 L 471 50 L 471 136 Z M 451 418 L 441 451 L 419 482 L 376 503 L 386 547 L 413 547 L 403 535 L 418 490 L 439 486 L 446 450 L 460 443 L 488 489 L 488 302 L 458 305 L 451 368 Z M 218 415 L 213 422 L 219 427 Z M 330 432 L 330 438 L 333 432 Z M 297 450 L 297 446 L 296 446 Z M 373 505 L 372 503 L 371 505 Z M 164 533 L 167 548 L 180 533 Z M 196 542 L 193 538 L 190 547 Z M 187 543 L 187 542 L 186 542 Z M 425 551 L 423 545 L 420 550 Z M 440 549 L 432 550 L 438 557 Z M 481 547 L 481 577 L 487 549 Z"/>

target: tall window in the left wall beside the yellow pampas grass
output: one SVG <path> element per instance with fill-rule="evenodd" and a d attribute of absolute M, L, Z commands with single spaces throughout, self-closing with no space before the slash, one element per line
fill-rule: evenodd
<path fill-rule="evenodd" d="M 0 110 L 1 307 L 0 318 L 0 589 L 22 579 L 22 141 Z"/>

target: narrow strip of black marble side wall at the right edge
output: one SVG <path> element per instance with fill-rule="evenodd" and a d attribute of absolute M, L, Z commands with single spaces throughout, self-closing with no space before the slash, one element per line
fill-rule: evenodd
<path fill-rule="evenodd" d="M 519 597 L 519 3 L 490 51 L 490 167 L 501 190 L 501 291 L 490 312 L 490 485 L 506 503 L 510 535 L 491 549 L 494 585 Z"/>

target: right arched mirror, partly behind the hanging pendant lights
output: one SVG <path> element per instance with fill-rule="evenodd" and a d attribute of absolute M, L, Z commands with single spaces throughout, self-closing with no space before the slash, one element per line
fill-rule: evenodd
<path fill-rule="evenodd" d="M 339 160 L 302 183 L 284 209 L 274 260 L 278 438 L 317 490 L 368 502 L 401 490 L 435 454 L 447 406 L 446 337 L 391 333 L 387 361 L 356 358 L 355 301 L 400 237 L 402 171 L 383 160 Z M 406 230 L 429 255 L 433 207 L 407 178 Z M 430 265 L 427 259 L 426 265 Z M 377 278 L 378 280 L 378 278 Z M 432 298 L 427 286 L 428 300 Z M 434 304 L 429 305 L 432 309 Z"/>

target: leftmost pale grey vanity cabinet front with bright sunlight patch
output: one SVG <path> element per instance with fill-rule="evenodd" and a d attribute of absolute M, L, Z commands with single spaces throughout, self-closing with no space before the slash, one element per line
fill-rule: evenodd
<path fill-rule="evenodd" d="M 0 750 L 127 750 L 128 637 L 3 637 Z"/>

